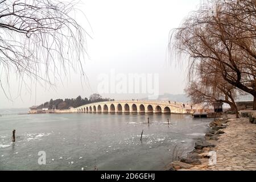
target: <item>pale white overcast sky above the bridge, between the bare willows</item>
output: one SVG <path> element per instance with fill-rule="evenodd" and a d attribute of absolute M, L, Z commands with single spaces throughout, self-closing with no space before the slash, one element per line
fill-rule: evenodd
<path fill-rule="evenodd" d="M 25 91 L 17 97 L 15 86 L 11 89 L 13 101 L 7 100 L 0 90 L 0 108 L 19 108 L 39 105 L 51 98 L 89 97 L 98 92 L 102 74 L 117 75 L 141 73 L 159 76 L 159 94 L 184 93 L 185 71 L 179 65 L 168 62 L 168 37 L 172 28 L 196 10 L 199 0 L 84 0 L 79 9 L 84 12 L 78 22 L 88 30 L 89 59 L 85 60 L 85 72 L 90 88 L 81 85 L 79 73 L 71 73 L 68 80 L 57 83 L 56 88 L 46 89 L 37 85 L 32 93 Z M 10 85 L 15 85 L 16 78 Z M 36 90 L 36 92 L 35 92 Z M 35 94 L 36 93 L 36 94 Z M 144 94 L 102 94 L 116 100 L 144 98 Z"/>

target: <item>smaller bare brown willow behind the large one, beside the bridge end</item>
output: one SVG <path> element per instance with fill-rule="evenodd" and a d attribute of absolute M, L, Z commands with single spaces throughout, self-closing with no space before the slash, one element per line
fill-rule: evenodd
<path fill-rule="evenodd" d="M 189 82 L 185 92 L 191 97 L 193 104 L 211 105 L 214 102 L 224 102 L 235 111 L 238 118 L 236 102 L 238 90 L 226 82 L 215 69 L 199 64 L 196 67 L 196 79 Z"/>

